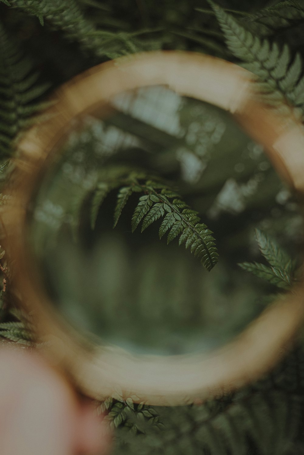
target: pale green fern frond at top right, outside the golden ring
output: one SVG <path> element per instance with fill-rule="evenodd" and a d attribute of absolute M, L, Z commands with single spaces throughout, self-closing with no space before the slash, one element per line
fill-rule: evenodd
<path fill-rule="evenodd" d="M 287 45 L 280 51 L 276 43 L 270 44 L 267 39 L 260 40 L 232 15 L 213 2 L 209 3 L 233 56 L 243 61 L 243 66 L 262 82 L 262 85 L 257 84 L 257 90 L 263 92 L 263 100 L 274 106 L 287 101 L 291 106 L 300 108 L 303 114 L 304 100 L 299 98 L 304 85 L 303 77 L 299 79 L 303 71 L 300 56 L 297 54 L 292 59 Z"/>

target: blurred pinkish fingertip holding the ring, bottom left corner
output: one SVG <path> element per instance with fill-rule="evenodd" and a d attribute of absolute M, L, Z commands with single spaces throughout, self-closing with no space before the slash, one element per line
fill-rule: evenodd
<path fill-rule="evenodd" d="M 106 424 L 42 356 L 3 348 L 0 365 L 2 454 L 108 453 Z"/>

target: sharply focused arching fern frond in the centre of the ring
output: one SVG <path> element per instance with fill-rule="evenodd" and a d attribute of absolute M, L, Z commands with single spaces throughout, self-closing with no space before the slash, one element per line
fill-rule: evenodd
<path fill-rule="evenodd" d="M 142 174 L 143 175 L 143 174 Z M 139 177 L 142 177 L 139 175 Z M 142 232 L 159 218 L 164 218 L 159 228 L 159 238 L 165 233 L 167 243 L 180 236 L 179 245 L 185 243 L 186 248 L 190 247 L 194 254 L 207 270 L 211 270 L 218 262 L 218 253 L 215 247 L 212 232 L 200 222 L 198 212 L 189 208 L 181 200 L 181 197 L 173 192 L 166 184 L 147 180 L 141 182 L 136 174 L 125 177 L 124 182 L 129 180 L 129 185 L 119 189 L 117 204 L 114 211 L 114 227 L 117 225 L 122 209 L 127 204 L 129 197 L 134 192 L 145 193 L 139 198 L 137 207 L 132 216 L 132 232 L 142 222 Z M 91 225 L 96 221 L 97 205 L 106 197 L 111 188 L 117 187 L 118 182 L 108 184 L 101 182 L 97 185 L 96 192 L 91 205 Z"/>

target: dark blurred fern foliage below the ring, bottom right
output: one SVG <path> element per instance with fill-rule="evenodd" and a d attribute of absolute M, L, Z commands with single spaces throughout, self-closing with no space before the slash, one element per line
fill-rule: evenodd
<path fill-rule="evenodd" d="M 120 424 L 114 453 L 302 454 L 303 354 L 303 348 L 297 347 L 268 377 L 236 393 L 204 404 L 155 407 L 166 430 L 154 428 L 132 437 Z M 111 419 L 128 407 L 121 402 L 117 408 L 112 399 L 105 403 L 107 407 L 103 405 L 102 410 L 110 410 Z"/>

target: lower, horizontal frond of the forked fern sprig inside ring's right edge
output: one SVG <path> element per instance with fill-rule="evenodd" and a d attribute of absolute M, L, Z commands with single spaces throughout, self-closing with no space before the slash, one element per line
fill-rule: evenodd
<path fill-rule="evenodd" d="M 238 265 L 243 268 L 243 270 L 253 273 L 253 275 L 258 278 L 263 278 L 270 284 L 278 286 L 278 288 L 289 289 L 291 286 L 289 275 L 280 269 L 267 267 L 266 265 L 257 262 L 243 262 Z"/>

